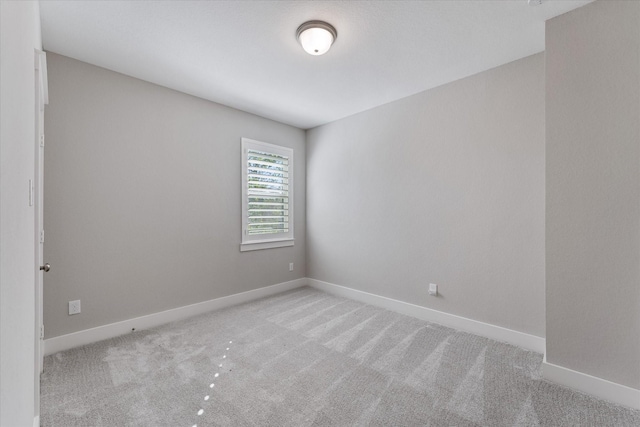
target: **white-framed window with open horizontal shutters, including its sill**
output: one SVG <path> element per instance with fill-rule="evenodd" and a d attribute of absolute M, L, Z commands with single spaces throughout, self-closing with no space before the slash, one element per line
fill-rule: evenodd
<path fill-rule="evenodd" d="M 293 150 L 242 138 L 241 251 L 293 246 Z"/>

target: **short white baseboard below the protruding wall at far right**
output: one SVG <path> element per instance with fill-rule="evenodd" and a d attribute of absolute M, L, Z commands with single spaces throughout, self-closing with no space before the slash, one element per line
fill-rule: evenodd
<path fill-rule="evenodd" d="M 554 383 L 587 393 L 618 405 L 640 409 L 640 390 L 617 384 L 589 374 L 542 361 L 542 377 Z"/>

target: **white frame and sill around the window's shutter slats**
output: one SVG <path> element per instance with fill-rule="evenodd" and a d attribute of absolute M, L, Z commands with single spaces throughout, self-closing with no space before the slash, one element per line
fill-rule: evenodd
<path fill-rule="evenodd" d="M 286 233 L 278 233 L 278 237 L 274 237 L 273 234 L 265 235 L 249 235 L 247 228 L 249 224 L 249 196 L 248 196 L 248 151 L 258 150 L 266 153 L 273 153 L 279 156 L 287 156 L 289 158 L 289 231 Z M 242 238 L 240 243 L 240 251 L 254 251 L 259 249 L 271 249 L 281 248 L 294 245 L 294 161 L 293 161 L 293 148 L 285 147 L 282 145 L 270 144 L 268 142 L 257 141 L 250 138 L 241 138 L 241 162 L 242 162 Z"/>

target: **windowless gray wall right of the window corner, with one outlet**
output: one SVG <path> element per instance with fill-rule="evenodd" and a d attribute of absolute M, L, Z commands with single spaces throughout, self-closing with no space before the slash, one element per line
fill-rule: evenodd
<path fill-rule="evenodd" d="M 307 144 L 309 277 L 544 336 L 543 54 Z"/>

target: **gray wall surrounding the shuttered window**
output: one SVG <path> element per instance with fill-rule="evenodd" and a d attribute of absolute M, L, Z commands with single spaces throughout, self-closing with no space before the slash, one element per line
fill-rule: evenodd
<path fill-rule="evenodd" d="M 49 88 L 47 338 L 305 277 L 304 131 L 52 53 Z M 241 137 L 295 150 L 293 247 L 240 252 Z"/>

